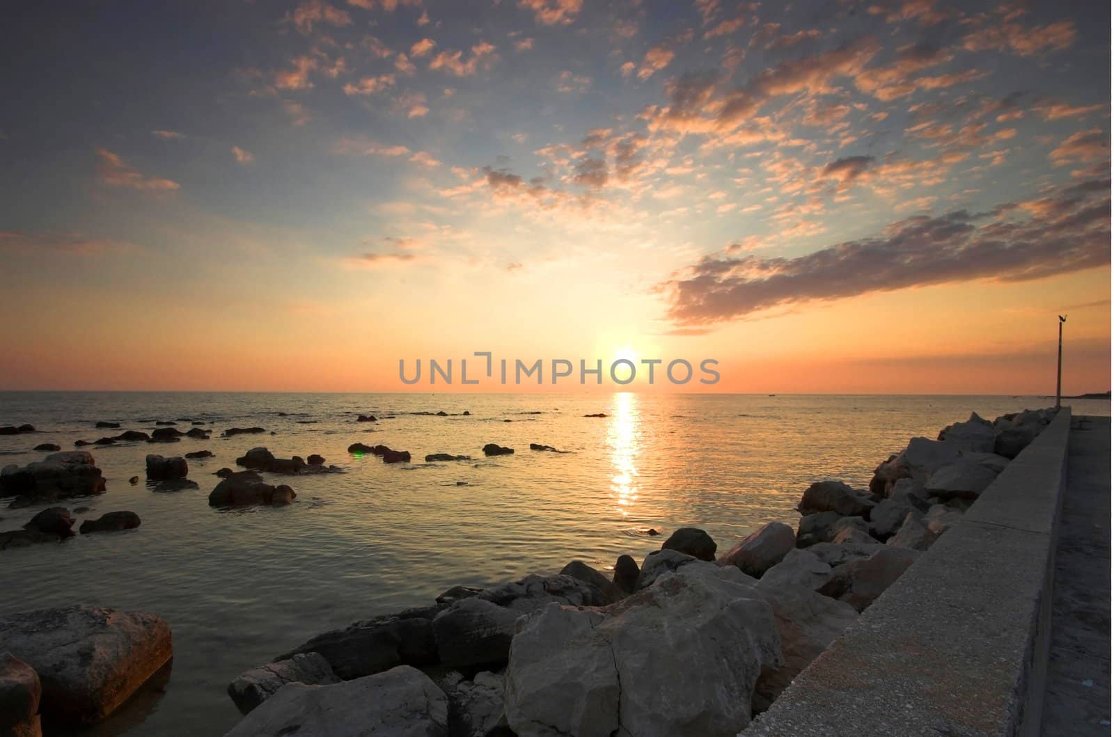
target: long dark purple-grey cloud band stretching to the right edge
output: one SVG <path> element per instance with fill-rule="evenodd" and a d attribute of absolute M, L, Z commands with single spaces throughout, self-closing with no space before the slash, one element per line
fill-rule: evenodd
<path fill-rule="evenodd" d="M 934 284 L 1025 282 L 1110 264 L 1110 179 L 1057 193 L 1047 217 L 1019 203 L 991 213 L 909 217 L 873 237 L 795 258 L 705 257 L 661 285 L 678 325 Z"/>

